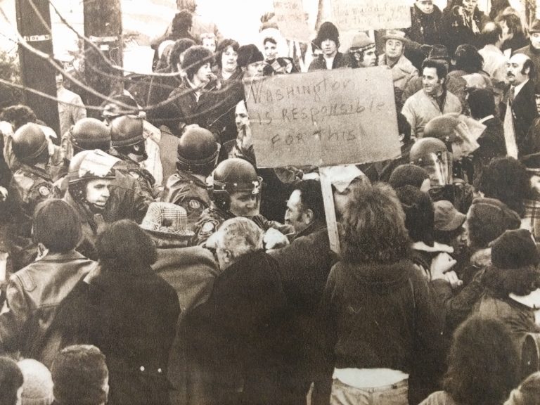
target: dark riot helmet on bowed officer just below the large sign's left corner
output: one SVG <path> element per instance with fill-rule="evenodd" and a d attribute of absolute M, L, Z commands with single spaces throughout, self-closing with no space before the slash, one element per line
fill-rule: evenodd
<path fill-rule="evenodd" d="M 262 178 L 257 176 L 255 167 L 247 160 L 231 158 L 224 160 L 214 170 L 212 200 L 221 210 L 229 211 L 231 194 L 250 191 L 260 195 Z"/>

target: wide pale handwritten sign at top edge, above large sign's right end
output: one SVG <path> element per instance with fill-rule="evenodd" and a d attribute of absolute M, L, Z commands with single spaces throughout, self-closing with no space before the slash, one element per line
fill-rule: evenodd
<path fill-rule="evenodd" d="M 332 0 L 332 21 L 340 30 L 411 27 L 410 0 Z"/>

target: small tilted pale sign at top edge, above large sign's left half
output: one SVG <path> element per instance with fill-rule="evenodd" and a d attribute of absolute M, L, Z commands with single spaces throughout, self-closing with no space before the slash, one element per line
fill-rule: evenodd
<path fill-rule="evenodd" d="M 311 31 L 302 0 L 274 0 L 274 14 L 279 32 L 292 41 L 309 42 Z"/>

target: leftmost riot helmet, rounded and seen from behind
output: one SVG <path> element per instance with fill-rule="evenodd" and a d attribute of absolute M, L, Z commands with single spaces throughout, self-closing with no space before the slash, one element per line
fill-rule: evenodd
<path fill-rule="evenodd" d="M 30 122 L 17 129 L 11 145 L 15 158 L 25 165 L 49 160 L 49 141 L 38 124 Z"/>

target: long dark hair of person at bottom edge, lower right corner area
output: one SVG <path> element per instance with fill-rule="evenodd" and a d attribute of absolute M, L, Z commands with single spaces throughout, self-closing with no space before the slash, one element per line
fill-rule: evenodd
<path fill-rule="evenodd" d="M 444 390 L 459 404 L 502 404 L 519 382 L 519 364 L 506 326 L 472 316 L 454 333 Z"/>

